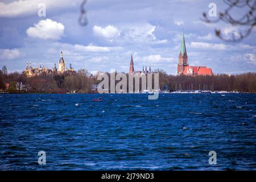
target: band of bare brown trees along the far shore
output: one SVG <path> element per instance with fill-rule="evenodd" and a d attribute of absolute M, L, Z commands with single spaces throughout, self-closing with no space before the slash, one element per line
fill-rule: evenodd
<path fill-rule="evenodd" d="M 217 90 L 256 93 L 256 73 L 213 76 L 174 76 L 162 70 L 159 73 L 159 89 L 168 90 Z M 110 74 L 107 73 L 109 76 Z M 128 74 L 126 74 L 128 78 Z M 128 79 L 127 79 L 128 80 Z M 27 77 L 24 73 L 0 72 L 0 90 L 7 93 L 97 93 L 96 76 L 40 75 Z M 117 83 L 118 81 L 116 81 Z"/>

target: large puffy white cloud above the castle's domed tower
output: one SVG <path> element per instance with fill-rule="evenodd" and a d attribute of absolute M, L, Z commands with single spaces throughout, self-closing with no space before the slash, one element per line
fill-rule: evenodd
<path fill-rule="evenodd" d="M 64 34 L 64 25 L 51 19 L 40 20 L 34 27 L 27 29 L 27 35 L 31 38 L 58 40 Z"/>

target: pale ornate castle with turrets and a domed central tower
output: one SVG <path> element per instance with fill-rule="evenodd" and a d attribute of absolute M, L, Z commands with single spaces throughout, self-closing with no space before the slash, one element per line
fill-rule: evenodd
<path fill-rule="evenodd" d="M 75 73 L 74 68 L 72 68 L 72 65 L 69 64 L 69 68 L 65 69 L 65 60 L 63 59 L 63 52 L 60 52 L 60 60 L 58 61 L 58 69 L 56 68 L 56 64 L 54 64 L 54 68 L 48 69 L 46 67 L 42 67 L 40 65 L 39 68 L 33 68 L 32 64 L 30 63 L 26 65 L 26 68 L 24 70 L 24 73 L 28 77 L 33 77 L 33 76 L 39 76 L 39 75 L 57 75 L 57 74 L 65 74 L 65 73 Z"/>

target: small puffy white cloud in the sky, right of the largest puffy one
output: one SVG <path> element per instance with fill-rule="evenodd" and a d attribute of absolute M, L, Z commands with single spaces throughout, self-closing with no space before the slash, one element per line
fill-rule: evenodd
<path fill-rule="evenodd" d="M 118 28 L 112 25 L 106 26 L 105 28 L 102 28 L 101 26 L 94 26 L 93 32 L 96 36 L 102 36 L 107 39 L 114 39 L 120 35 Z"/>

